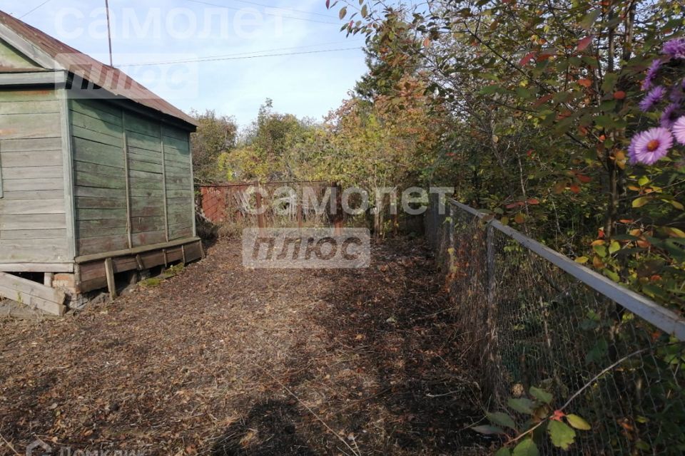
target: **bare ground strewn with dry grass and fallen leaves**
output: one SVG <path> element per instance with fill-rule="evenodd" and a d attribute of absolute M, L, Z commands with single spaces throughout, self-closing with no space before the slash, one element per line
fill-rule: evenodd
<path fill-rule="evenodd" d="M 250 271 L 219 242 L 112 304 L 0 321 L 0 454 L 36 437 L 147 455 L 481 454 L 440 275 L 420 242 L 373 249 L 366 270 Z"/>

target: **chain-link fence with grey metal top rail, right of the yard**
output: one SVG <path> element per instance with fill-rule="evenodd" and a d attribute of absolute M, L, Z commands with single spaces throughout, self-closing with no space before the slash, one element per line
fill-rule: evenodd
<path fill-rule="evenodd" d="M 475 209 L 440 212 L 433 202 L 427 238 L 487 410 L 524 423 L 509 401 L 525 408 L 540 388 L 548 415 L 592 427 L 568 451 L 539 427 L 542 454 L 685 454 L 685 320 Z"/>

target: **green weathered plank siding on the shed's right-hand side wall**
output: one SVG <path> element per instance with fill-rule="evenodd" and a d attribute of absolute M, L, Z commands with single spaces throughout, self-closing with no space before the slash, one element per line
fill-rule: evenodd
<path fill-rule="evenodd" d="M 70 106 L 78 255 L 190 237 L 188 133 L 103 101 Z"/>

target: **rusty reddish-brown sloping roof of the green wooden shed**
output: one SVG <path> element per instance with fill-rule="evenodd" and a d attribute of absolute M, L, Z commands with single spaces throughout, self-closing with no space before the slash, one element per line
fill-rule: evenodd
<path fill-rule="evenodd" d="M 77 51 L 66 43 L 62 43 L 58 39 L 26 24 L 24 21 L 14 18 L 4 11 L 0 11 L 0 24 L 3 24 L 53 59 L 56 63 L 56 68 L 51 69 L 76 70 L 76 68 L 88 68 L 80 76 L 108 90 L 113 95 L 128 98 L 128 100 L 157 110 L 160 113 L 171 115 L 191 125 L 198 125 L 191 116 L 163 100 L 120 69 L 97 61 L 95 58 Z"/>

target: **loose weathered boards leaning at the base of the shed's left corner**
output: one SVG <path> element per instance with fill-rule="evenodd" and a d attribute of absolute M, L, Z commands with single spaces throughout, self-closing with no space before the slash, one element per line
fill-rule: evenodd
<path fill-rule="evenodd" d="M 66 312 L 64 291 L 5 272 L 0 272 L 0 294 L 21 304 L 36 306 L 49 314 L 62 316 Z"/>

